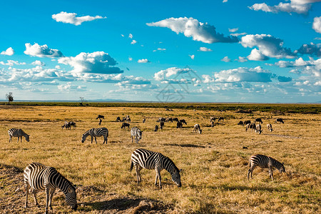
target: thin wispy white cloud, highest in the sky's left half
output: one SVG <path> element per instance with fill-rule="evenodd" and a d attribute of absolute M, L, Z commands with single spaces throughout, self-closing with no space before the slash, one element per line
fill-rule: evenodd
<path fill-rule="evenodd" d="M 81 25 L 84 21 L 93 21 L 95 19 L 106 19 L 103 16 L 79 16 L 76 17 L 75 13 L 67 13 L 61 11 L 59 14 L 53 14 L 51 17 L 56 21 L 60 21 L 63 23 L 73 24 L 73 25 Z"/>

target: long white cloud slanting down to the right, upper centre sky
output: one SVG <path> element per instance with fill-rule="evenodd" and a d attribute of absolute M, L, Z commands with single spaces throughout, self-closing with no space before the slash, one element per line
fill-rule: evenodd
<path fill-rule="evenodd" d="M 224 36 L 217 33 L 215 26 L 199 22 L 197 19 L 180 17 L 163 19 L 158 22 L 147 23 L 148 26 L 166 27 L 176 34 L 183 33 L 186 37 L 192 37 L 195 41 L 212 44 L 216 42 L 235 43 L 238 38 L 235 36 Z"/>

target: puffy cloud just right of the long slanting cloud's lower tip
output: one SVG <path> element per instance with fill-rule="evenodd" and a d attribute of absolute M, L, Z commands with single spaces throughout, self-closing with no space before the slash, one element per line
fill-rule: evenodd
<path fill-rule="evenodd" d="M 243 47 L 253 48 L 257 46 L 258 49 L 253 49 L 248 59 L 253 61 L 265 61 L 268 58 L 294 58 L 295 54 L 288 48 L 283 47 L 282 39 L 275 38 L 266 34 L 249 34 L 243 36 L 240 44 Z"/>

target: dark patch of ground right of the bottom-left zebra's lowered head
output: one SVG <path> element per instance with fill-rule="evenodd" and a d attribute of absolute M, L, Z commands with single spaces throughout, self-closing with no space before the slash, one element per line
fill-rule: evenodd
<path fill-rule="evenodd" d="M 83 203 L 83 205 L 90 206 L 93 210 L 117 210 L 123 211 L 133 208 L 131 213 L 142 213 L 143 211 L 168 211 L 171 210 L 170 206 L 164 205 L 157 201 L 145 200 L 142 198 L 113 198 L 111 200 L 103 200 L 93 203 Z"/>

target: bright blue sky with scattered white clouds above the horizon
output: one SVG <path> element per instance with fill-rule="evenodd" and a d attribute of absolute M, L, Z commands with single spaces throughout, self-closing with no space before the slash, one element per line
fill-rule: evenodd
<path fill-rule="evenodd" d="M 321 101 L 321 2 L 4 1 L 16 100 Z"/>

